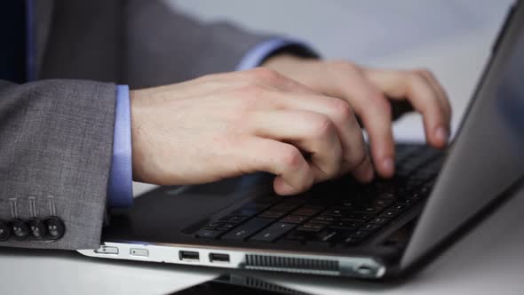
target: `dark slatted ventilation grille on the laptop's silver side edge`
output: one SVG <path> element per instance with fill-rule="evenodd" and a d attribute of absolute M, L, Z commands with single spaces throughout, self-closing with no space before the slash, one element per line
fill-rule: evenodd
<path fill-rule="evenodd" d="M 246 255 L 246 268 L 320 275 L 333 275 L 339 273 L 338 261 L 336 260 L 304 259 L 253 254 Z"/>

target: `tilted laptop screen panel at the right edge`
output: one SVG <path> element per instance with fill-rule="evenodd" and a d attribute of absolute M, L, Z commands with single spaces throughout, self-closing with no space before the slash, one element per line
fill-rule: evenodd
<path fill-rule="evenodd" d="M 506 20 L 401 260 L 408 267 L 524 176 L 524 7 Z"/>

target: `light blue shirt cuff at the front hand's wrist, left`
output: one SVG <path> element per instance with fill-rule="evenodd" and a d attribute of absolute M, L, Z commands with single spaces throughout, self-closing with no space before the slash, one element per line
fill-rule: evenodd
<path fill-rule="evenodd" d="M 129 207 L 133 203 L 131 163 L 131 102 L 129 86 L 116 86 L 113 159 L 107 184 L 107 205 Z"/>

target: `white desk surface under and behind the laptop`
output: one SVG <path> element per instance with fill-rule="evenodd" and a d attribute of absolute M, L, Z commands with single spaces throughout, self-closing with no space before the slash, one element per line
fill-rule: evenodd
<path fill-rule="evenodd" d="M 462 36 L 377 60 L 377 66 L 433 69 L 455 108 L 464 112 L 488 56 L 489 36 Z M 421 139 L 417 116 L 395 127 L 398 138 Z M 149 186 L 135 184 L 135 193 Z M 255 273 L 267 280 L 315 294 L 520 294 L 524 284 L 524 192 L 404 283 Z M 443 213 L 442 218 L 446 218 Z M 155 263 L 91 259 L 74 251 L 0 249 L 0 294 L 166 294 L 201 283 L 220 270 Z"/>

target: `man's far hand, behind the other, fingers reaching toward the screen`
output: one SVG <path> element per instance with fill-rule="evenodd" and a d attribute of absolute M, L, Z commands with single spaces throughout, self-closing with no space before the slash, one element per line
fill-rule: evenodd
<path fill-rule="evenodd" d="M 305 60 L 290 55 L 275 56 L 266 60 L 264 66 L 315 92 L 349 102 L 369 133 L 373 163 L 383 177 L 391 177 L 394 172 L 390 102 L 409 101 L 423 116 L 428 143 L 435 148 L 447 144 L 449 100 L 441 84 L 425 69 L 382 70 L 348 61 Z"/>

